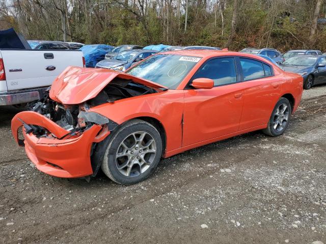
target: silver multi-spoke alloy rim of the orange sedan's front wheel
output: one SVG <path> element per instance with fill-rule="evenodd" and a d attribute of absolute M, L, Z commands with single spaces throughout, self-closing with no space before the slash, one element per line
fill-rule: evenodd
<path fill-rule="evenodd" d="M 128 177 L 138 176 L 149 169 L 156 155 L 156 143 L 149 133 L 131 133 L 120 143 L 116 152 L 116 167 Z"/>

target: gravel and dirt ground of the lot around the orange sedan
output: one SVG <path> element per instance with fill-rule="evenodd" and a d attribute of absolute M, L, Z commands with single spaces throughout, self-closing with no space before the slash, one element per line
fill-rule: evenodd
<path fill-rule="evenodd" d="M 193 149 L 128 187 L 36 170 L 11 136 L 17 111 L 0 108 L 1 243 L 326 243 L 326 86 L 283 136 Z"/>

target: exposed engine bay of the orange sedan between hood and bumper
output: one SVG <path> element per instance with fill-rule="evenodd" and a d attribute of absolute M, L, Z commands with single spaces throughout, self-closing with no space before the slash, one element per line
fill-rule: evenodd
<path fill-rule="evenodd" d="M 93 124 L 109 126 L 110 122 L 113 122 L 100 114 L 87 112 L 91 107 L 104 103 L 114 103 L 120 99 L 157 93 L 157 90 L 135 83 L 132 80 L 115 78 L 96 97 L 83 104 L 64 105 L 52 100 L 49 97 L 49 90 L 50 87 L 46 90 L 42 100 L 30 103 L 29 110 L 44 115 L 61 128 L 69 131 L 70 133 L 67 136 L 82 133 Z M 46 130 L 39 126 L 33 126 L 32 129 L 33 134 L 38 137 L 47 135 Z"/>

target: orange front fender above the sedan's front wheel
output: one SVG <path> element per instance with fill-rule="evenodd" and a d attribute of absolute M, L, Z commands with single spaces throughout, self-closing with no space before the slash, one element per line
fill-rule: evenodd
<path fill-rule="evenodd" d="M 126 121 L 150 117 L 158 120 L 166 133 L 166 152 L 181 147 L 184 90 L 166 90 L 105 103 L 91 108 L 121 125 Z"/>

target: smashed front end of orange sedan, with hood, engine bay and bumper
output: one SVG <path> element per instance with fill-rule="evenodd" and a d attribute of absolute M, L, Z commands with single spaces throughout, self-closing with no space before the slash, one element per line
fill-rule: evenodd
<path fill-rule="evenodd" d="M 100 147 L 118 124 L 91 109 L 160 91 L 119 74 L 70 67 L 44 99 L 14 116 L 14 138 L 40 171 L 65 178 L 96 175 L 104 155 Z M 18 137 L 20 128 L 24 139 Z"/>

